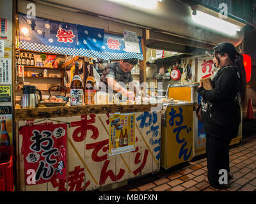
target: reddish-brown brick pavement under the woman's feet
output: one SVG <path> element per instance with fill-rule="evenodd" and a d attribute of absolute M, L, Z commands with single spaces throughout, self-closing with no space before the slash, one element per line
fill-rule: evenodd
<path fill-rule="evenodd" d="M 214 189 L 205 182 L 205 154 L 189 163 L 128 180 L 127 186 L 111 191 L 256 191 L 256 135 L 230 147 L 230 171 L 234 179 L 228 189 Z"/>

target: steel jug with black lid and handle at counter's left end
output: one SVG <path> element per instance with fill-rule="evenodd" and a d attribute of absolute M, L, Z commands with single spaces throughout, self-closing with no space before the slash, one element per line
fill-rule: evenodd
<path fill-rule="evenodd" d="M 22 90 L 20 100 L 21 108 L 36 108 L 38 106 L 38 95 L 36 91 L 39 93 L 40 101 L 42 101 L 42 93 L 40 90 L 36 89 L 35 85 L 24 85 Z"/>

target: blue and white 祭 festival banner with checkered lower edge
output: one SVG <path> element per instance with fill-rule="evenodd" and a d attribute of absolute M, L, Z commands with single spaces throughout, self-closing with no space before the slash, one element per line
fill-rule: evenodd
<path fill-rule="evenodd" d="M 19 14 L 20 48 L 53 54 L 80 55 L 100 59 L 143 60 L 140 53 L 125 52 L 123 35 L 104 33 L 104 29 L 67 24 Z"/>

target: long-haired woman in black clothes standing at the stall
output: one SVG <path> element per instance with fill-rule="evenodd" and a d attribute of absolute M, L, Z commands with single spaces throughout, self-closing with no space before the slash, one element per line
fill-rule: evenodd
<path fill-rule="evenodd" d="M 228 179 L 232 179 L 228 147 L 231 139 L 238 135 L 246 75 L 243 55 L 231 43 L 220 43 L 214 47 L 213 61 L 214 66 L 220 68 L 212 79 L 213 89 L 205 90 L 201 82 L 198 92 L 202 96 L 202 119 L 206 133 L 206 180 L 212 187 L 223 189 L 230 187 L 221 177 L 223 170 L 227 170 Z"/>

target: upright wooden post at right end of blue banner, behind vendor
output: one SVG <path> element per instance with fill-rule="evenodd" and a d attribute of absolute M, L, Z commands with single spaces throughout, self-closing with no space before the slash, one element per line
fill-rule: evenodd
<path fill-rule="evenodd" d="M 142 31 L 141 38 L 141 48 L 143 54 L 143 61 L 140 61 L 140 84 L 147 81 L 146 78 L 146 66 L 147 66 L 147 58 L 146 58 L 146 30 Z"/>

